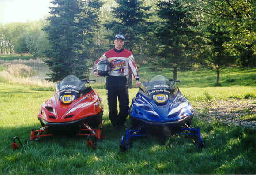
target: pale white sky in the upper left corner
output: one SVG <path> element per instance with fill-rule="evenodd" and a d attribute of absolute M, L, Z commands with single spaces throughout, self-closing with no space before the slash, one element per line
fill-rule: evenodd
<path fill-rule="evenodd" d="M 51 0 L 0 0 L 0 24 L 38 21 L 49 14 Z"/>

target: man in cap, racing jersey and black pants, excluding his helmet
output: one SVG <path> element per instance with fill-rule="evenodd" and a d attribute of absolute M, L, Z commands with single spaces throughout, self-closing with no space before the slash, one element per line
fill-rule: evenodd
<path fill-rule="evenodd" d="M 124 127 L 124 123 L 128 116 L 129 95 L 127 75 L 128 71 L 132 71 L 133 77 L 136 79 L 135 87 L 139 87 L 138 69 L 134 61 L 132 52 L 124 49 L 125 37 L 123 34 L 117 34 L 114 39 L 115 48 L 105 52 L 94 63 L 94 74 L 99 77 L 96 71 L 97 64 L 106 60 L 110 64 L 110 73 L 106 79 L 106 90 L 109 105 L 109 119 L 114 127 Z M 117 115 L 117 97 L 119 101 L 119 114 Z"/>

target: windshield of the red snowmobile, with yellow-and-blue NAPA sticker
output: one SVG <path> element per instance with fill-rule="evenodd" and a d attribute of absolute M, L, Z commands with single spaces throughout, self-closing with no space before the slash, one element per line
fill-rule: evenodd
<path fill-rule="evenodd" d="M 68 75 L 55 86 L 55 92 L 64 104 L 70 104 L 92 90 L 88 81 L 81 81 L 75 75 Z"/>

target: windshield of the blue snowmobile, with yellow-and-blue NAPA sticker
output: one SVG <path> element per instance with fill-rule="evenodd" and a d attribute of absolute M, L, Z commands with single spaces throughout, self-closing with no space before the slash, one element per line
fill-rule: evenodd
<path fill-rule="evenodd" d="M 163 75 L 155 75 L 148 82 L 143 82 L 140 89 L 157 103 L 164 103 L 179 91 L 176 81 L 169 80 Z"/>

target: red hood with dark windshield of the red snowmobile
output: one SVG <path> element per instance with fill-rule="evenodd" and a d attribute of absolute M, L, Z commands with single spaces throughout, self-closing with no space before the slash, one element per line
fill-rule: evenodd
<path fill-rule="evenodd" d="M 74 78 L 64 78 L 66 81 L 56 84 L 53 97 L 41 105 L 38 118 L 48 123 L 62 123 L 97 115 L 102 110 L 102 99 L 90 84 Z"/>

